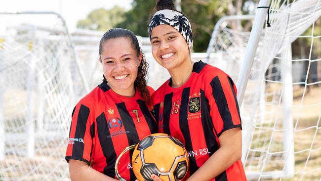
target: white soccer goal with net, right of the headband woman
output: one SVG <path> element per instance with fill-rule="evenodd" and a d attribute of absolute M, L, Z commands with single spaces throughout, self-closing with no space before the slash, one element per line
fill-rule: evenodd
<path fill-rule="evenodd" d="M 263 7 L 256 16 L 269 10 L 271 27 L 257 31 L 255 17 L 250 35 L 222 26 L 233 20 L 251 21 L 249 17 L 225 18 L 207 51 L 213 65 L 210 55 L 223 53 L 221 61 L 229 62 L 226 70 L 234 70 L 230 72 L 238 82 L 246 176 L 260 181 L 319 181 L 321 1 L 261 0 L 258 6 Z"/>

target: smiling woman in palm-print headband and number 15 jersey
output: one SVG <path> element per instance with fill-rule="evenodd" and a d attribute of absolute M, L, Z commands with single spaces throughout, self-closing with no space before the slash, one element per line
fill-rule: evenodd
<path fill-rule="evenodd" d="M 185 143 L 188 181 L 246 181 L 235 84 L 222 70 L 191 60 L 191 24 L 172 0 L 158 0 L 155 11 L 152 53 L 171 76 L 152 96 L 159 131 Z"/>

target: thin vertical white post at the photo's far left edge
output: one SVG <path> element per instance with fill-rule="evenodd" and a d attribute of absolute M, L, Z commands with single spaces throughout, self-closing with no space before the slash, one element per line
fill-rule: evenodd
<path fill-rule="evenodd" d="M 3 53 L 3 42 L 4 39 L 0 37 L 0 160 L 4 160 L 4 132 L 5 132 L 5 124 L 4 124 L 4 109 L 3 109 L 3 103 L 4 103 L 4 53 Z"/>

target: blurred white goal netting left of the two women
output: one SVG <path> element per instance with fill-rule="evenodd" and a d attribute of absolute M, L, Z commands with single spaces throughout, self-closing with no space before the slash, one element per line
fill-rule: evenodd
<path fill-rule="evenodd" d="M 61 19 L 42 16 L 52 19 L 53 25 L 12 25 L 0 35 L 0 180 L 4 181 L 68 178 L 64 155 L 75 104 L 74 54 Z M 21 15 L 5 18 L 17 21 Z"/>

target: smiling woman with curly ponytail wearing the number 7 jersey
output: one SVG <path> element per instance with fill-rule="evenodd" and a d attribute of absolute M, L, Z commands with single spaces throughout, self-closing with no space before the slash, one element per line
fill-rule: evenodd
<path fill-rule="evenodd" d="M 115 28 L 99 44 L 104 80 L 74 108 L 66 160 L 72 181 L 117 181 L 115 163 L 120 153 L 140 139 L 157 133 L 146 86 L 148 64 L 136 36 Z M 135 181 L 131 154 L 122 156 L 118 171 Z M 90 165 L 90 167 L 89 167 Z"/>

